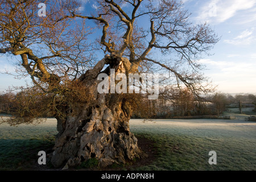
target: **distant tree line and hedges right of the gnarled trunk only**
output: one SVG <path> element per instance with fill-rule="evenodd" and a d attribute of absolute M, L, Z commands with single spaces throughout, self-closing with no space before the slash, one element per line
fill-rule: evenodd
<path fill-rule="evenodd" d="M 256 96 L 254 94 L 213 93 L 198 100 L 189 89 L 164 89 L 158 100 L 144 100 L 134 110 L 133 118 L 174 118 L 204 115 L 221 115 L 230 108 L 254 107 L 256 112 Z"/>

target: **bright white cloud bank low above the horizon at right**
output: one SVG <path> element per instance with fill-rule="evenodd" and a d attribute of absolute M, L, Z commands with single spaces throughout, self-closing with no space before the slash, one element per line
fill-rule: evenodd
<path fill-rule="evenodd" d="M 256 56 L 256 55 L 252 55 Z M 255 61 L 215 61 L 210 59 L 199 60 L 207 65 L 205 75 L 213 79 L 222 92 L 255 92 L 256 67 Z"/>

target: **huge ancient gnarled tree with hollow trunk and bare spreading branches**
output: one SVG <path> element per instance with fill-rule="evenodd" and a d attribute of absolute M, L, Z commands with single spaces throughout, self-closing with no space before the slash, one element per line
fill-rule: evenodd
<path fill-rule="evenodd" d="M 51 158 L 55 167 L 90 158 L 105 167 L 142 156 L 129 128 L 133 94 L 98 93 L 100 73 L 115 69 L 128 75 L 150 64 L 195 97 L 213 89 L 197 60 L 218 38 L 208 24 L 189 22 L 181 2 L 99 0 L 96 10 L 82 13 L 80 1 L 46 0 L 46 17 L 37 15 L 38 0 L 0 2 L 0 53 L 18 57 L 19 73 L 33 83 L 22 90 L 20 97 L 28 96 L 19 100 L 24 107 L 9 122 L 30 123 L 42 117 L 39 108 L 48 107 L 59 131 Z M 97 49 L 105 55 L 100 60 Z"/>

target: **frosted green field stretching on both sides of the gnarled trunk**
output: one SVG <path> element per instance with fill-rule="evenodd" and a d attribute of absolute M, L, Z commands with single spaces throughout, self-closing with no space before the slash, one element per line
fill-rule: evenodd
<path fill-rule="evenodd" d="M 131 119 L 131 132 L 138 138 L 150 139 L 148 151 L 156 154 L 150 164 L 131 169 L 256 170 L 256 122 L 235 115 L 234 120 Z M 55 134 L 55 119 L 38 126 L 0 125 L 0 169 L 34 168 L 38 152 L 53 146 Z M 212 150 L 217 152 L 217 165 L 211 166 L 208 154 Z"/>

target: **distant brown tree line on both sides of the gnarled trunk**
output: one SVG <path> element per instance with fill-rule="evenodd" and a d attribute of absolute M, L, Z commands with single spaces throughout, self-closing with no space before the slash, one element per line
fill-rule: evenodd
<path fill-rule="evenodd" d="M 51 117 L 52 105 L 48 102 L 51 96 L 31 96 L 32 93 L 19 92 L 17 94 L 8 93 L 0 95 L 1 113 L 19 113 L 26 115 L 34 108 L 40 115 Z M 256 112 L 256 96 L 254 94 L 237 94 L 232 96 L 226 93 L 214 93 L 197 100 L 193 93 L 187 88 L 165 88 L 160 91 L 157 100 L 148 100 L 147 96 L 137 94 L 133 96 L 134 111 L 133 118 L 173 118 L 176 116 L 200 116 L 200 115 L 220 115 L 225 110 L 239 108 L 242 113 L 243 107 L 254 107 Z M 22 102 L 21 102 L 22 101 Z M 39 106 L 44 106 L 44 110 L 38 110 Z M 27 108 L 27 109 L 26 109 Z M 17 112 L 18 111 L 18 112 Z"/>

